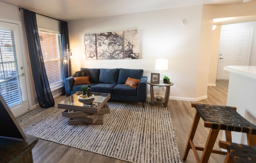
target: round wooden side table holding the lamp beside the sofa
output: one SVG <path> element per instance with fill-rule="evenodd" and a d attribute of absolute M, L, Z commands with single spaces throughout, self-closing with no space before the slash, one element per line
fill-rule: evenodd
<path fill-rule="evenodd" d="M 163 82 L 159 82 L 159 84 L 156 84 L 156 83 L 150 83 L 150 81 L 148 81 L 148 84 L 150 85 L 150 97 L 151 97 L 152 105 L 154 106 L 156 102 L 156 103 L 163 103 L 164 107 L 167 107 L 169 96 L 170 96 L 170 86 L 172 86 L 173 83 L 171 82 L 170 84 L 166 84 Z M 154 86 L 166 87 L 165 98 L 162 98 L 162 100 L 157 100 L 156 97 L 154 97 L 154 89 L 153 89 Z"/>

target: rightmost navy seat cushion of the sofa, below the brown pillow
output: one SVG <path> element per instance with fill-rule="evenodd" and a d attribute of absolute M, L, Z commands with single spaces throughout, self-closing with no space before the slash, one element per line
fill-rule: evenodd
<path fill-rule="evenodd" d="M 113 88 L 113 94 L 136 96 L 137 95 L 137 89 L 133 89 L 132 87 L 129 87 L 127 85 L 117 84 Z"/>

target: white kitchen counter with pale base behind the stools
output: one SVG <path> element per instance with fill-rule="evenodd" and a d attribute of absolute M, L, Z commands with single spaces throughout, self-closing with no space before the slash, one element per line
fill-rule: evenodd
<path fill-rule="evenodd" d="M 230 72 L 227 106 L 236 107 L 241 116 L 256 125 L 256 66 L 226 66 L 224 70 Z M 232 141 L 247 144 L 246 134 L 232 132 Z"/>

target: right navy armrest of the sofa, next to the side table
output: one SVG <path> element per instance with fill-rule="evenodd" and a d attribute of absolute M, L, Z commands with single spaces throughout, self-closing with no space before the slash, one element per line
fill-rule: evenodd
<path fill-rule="evenodd" d="M 146 102 L 147 100 L 147 85 L 148 85 L 148 77 L 142 76 L 141 81 L 138 84 L 137 87 L 137 98 L 139 102 Z"/>

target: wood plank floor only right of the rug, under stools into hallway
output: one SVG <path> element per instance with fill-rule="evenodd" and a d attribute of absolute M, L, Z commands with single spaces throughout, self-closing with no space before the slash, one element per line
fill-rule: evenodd
<path fill-rule="evenodd" d="M 205 100 L 197 101 L 197 103 L 205 103 L 212 105 L 226 105 L 227 91 L 229 81 L 217 80 L 216 87 L 208 87 L 207 96 Z M 169 109 L 174 125 L 174 131 L 179 146 L 181 158 L 183 157 L 185 147 L 187 144 L 188 135 L 193 122 L 196 109 L 191 107 L 190 101 L 169 100 Z M 200 118 L 199 125 L 194 137 L 194 144 L 199 147 L 204 147 L 210 129 L 203 127 L 203 120 Z M 219 132 L 218 138 L 214 145 L 214 149 L 219 149 L 218 142 L 222 139 L 222 132 Z M 198 152 L 201 158 L 202 152 Z M 219 154 L 211 154 L 209 163 L 223 163 L 225 156 Z M 183 161 L 183 159 L 182 159 Z M 194 153 L 189 151 L 186 161 L 183 163 L 196 163 Z"/>

